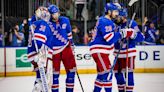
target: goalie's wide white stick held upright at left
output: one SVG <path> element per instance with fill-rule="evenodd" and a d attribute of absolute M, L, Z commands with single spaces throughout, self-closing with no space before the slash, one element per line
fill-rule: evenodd
<path fill-rule="evenodd" d="M 32 26 L 31 26 L 31 32 L 34 37 L 34 28 Z M 39 52 L 38 46 L 36 44 L 36 40 L 35 39 L 33 39 L 33 40 L 34 40 L 36 52 L 39 54 L 40 52 Z M 45 74 L 45 69 L 44 69 L 43 64 L 41 63 L 42 60 L 40 59 L 40 57 L 37 57 L 37 58 L 38 58 L 37 64 L 38 64 L 38 68 L 39 68 L 39 72 L 40 72 L 40 76 L 41 76 L 43 92 L 48 92 L 49 88 L 48 88 L 47 78 L 46 78 L 46 74 Z"/>

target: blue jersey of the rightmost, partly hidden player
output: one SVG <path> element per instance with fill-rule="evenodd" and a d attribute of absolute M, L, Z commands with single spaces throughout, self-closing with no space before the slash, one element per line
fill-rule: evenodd
<path fill-rule="evenodd" d="M 128 24 L 130 23 L 130 20 L 128 20 Z M 123 23 L 120 25 L 120 28 L 126 28 L 127 23 Z M 120 49 L 120 43 L 122 43 L 122 47 L 119 53 L 119 58 L 126 58 L 126 53 L 128 53 L 128 57 L 131 56 L 136 56 L 136 43 L 137 42 L 142 42 L 144 40 L 144 35 L 140 32 L 138 25 L 135 21 L 132 21 L 132 25 L 130 28 L 135 29 L 136 32 L 136 36 L 134 39 L 129 38 L 129 44 L 128 44 L 128 52 L 127 52 L 127 40 L 124 38 L 121 41 L 117 41 L 115 43 L 115 51 L 114 51 L 114 55 L 116 56 L 117 53 L 119 52 Z"/>

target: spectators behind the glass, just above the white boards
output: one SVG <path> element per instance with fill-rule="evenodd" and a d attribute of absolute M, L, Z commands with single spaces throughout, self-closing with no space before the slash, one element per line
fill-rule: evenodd
<path fill-rule="evenodd" d="M 8 23 L 5 23 L 5 27 L 9 27 Z M 159 30 L 155 27 L 153 21 L 148 20 L 145 17 L 144 20 L 144 30 L 142 33 L 145 35 L 144 42 L 140 43 L 142 45 L 155 45 L 155 44 L 164 44 L 164 34 L 162 30 Z M 78 25 L 72 25 L 73 40 L 75 45 L 87 45 L 93 35 L 94 26 L 88 28 L 87 34 L 80 35 L 80 30 Z M 29 24 L 27 19 L 23 19 L 22 22 L 15 23 L 13 27 L 5 28 L 4 35 L 2 35 L 2 29 L 0 27 L 0 46 L 3 46 L 3 37 L 5 38 L 5 46 L 13 47 L 25 47 L 28 45 L 29 37 Z"/>

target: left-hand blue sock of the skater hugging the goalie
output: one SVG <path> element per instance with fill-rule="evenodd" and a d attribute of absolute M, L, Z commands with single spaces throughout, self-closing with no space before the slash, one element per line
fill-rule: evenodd
<path fill-rule="evenodd" d="M 53 74 L 52 92 L 59 92 L 59 74 Z"/>

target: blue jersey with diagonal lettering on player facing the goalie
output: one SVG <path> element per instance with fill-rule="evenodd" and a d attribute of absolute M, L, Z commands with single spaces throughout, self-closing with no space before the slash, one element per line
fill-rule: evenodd
<path fill-rule="evenodd" d="M 60 53 L 63 49 L 68 46 L 72 41 L 72 29 L 70 21 L 67 17 L 60 16 L 57 22 L 53 19 L 50 20 L 50 28 L 53 32 L 53 54 Z"/>

